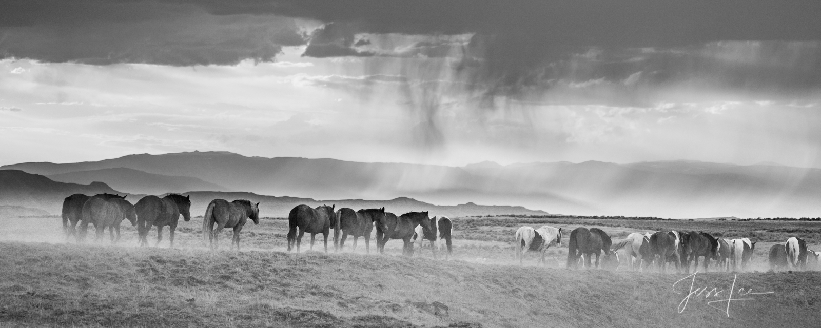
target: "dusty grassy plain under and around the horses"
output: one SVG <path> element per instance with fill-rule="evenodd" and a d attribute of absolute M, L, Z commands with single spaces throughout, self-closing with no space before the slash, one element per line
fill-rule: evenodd
<path fill-rule="evenodd" d="M 330 254 L 284 253 L 287 221 L 270 219 L 245 226 L 242 252 L 227 250 L 228 233 L 222 248 L 209 252 L 200 220 L 181 222 L 168 249 L 167 232 L 160 248 L 136 248 L 131 227 L 116 246 L 108 239 L 77 245 L 63 243 L 58 218 L 0 219 L 0 326 L 758 327 L 815 326 L 821 319 L 821 273 L 814 271 L 737 274 L 734 298 L 741 298 L 738 288 L 774 293 L 732 302 L 727 317 L 707 304 L 727 292 L 694 296 L 679 313 L 690 285 L 672 285 L 684 275 L 569 271 L 562 261 L 537 267 L 532 255 L 528 266 L 511 265 L 512 232 L 547 223 L 599 226 L 614 237 L 669 229 L 756 232 L 764 241 L 755 267 L 763 270 L 770 239 L 781 238 L 782 229 L 815 231 L 819 222 L 460 218 L 456 259 L 437 261 L 429 250 L 398 256 L 399 240 L 385 255 L 365 254 L 361 240 L 355 253 L 334 254 L 333 243 Z M 810 240 L 813 248 L 818 239 Z M 565 253 L 551 256 L 562 260 Z M 730 289 L 733 277 L 699 273 L 694 285 Z"/>

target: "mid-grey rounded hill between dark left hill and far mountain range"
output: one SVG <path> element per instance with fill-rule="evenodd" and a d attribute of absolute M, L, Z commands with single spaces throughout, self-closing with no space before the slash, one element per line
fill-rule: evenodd
<path fill-rule="evenodd" d="M 158 175 L 125 167 L 67 172 L 47 176 L 51 180 L 76 184 L 101 181 L 113 189 L 129 194 L 165 194 L 179 193 L 186 190 L 232 191 L 221 185 L 215 185 L 190 176 Z"/>

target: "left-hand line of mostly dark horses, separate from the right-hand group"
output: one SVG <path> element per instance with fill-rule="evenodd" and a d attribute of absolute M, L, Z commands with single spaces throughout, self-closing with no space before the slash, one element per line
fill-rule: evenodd
<path fill-rule="evenodd" d="M 97 238 L 103 238 L 105 230 L 109 230 L 111 241 L 117 243 L 120 239 L 120 225 L 123 220 L 131 222 L 137 227 L 140 246 L 148 244 L 147 236 L 153 226 L 157 227 L 157 244 L 163 239 L 163 227 L 168 226 L 171 247 L 174 245 L 174 233 L 177 222 L 182 216 L 190 221 L 190 196 L 169 194 L 163 198 L 145 196 L 135 204 L 126 200 L 126 196 L 117 194 L 72 194 L 62 203 L 62 225 L 66 238 L 76 237 L 78 243 L 85 240 L 88 226 L 93 225 Z M 218 245 L 218 236 L 223 229 L 233 229 L 231 248 L 240 248 L 240 232 L 250 219 L 255 225 L 259 224 L 259 203 L 245 199 L 228 202 L 225 199 L 214 199 L 206 207 L 203 216 L 203 240 L 209 248 L 215 249 Z M 78 226 L 79 224 L 79 226 Z M 428 212 L 408 212 L 396 216 L 385 212 L 382 208 L 366 208 L 354 211 L 343 207 L 334 212 L 334 206 L 319 206 L 311 208 L 307 205 L 297 205 L 288 214 L 289 231 L 287 235 L 287 249 L 290 252 L 294 246 L 300 251 L 300 243 L 305 233 L 310 234 L 310 248 L 314 247 L 317 234 L 323 235 L 325 253 L 328 253 L 328 236 L 333 230 L 334 248 L 341 251 L 348 235 L 354 238 L 353 247 L 360 237 L 365 238 L 365 250 L 370 253 L 370 235 L 376 228 L 376 242 L 379 253 L 384 253 L 385 244 L 390 239 L 402 239 L 405 243 L 402 254 L 412 256 L 414 244 L 429 240 L 433 248 L 433 257 L 437 257 L 437 250 L 447 246 L 445 257 L 452 254 L 452 221 L 447 216 L 428 216 Z M 117 236 L 115 238 L 115 231 Z M 444 241 L 444 244 L 442 244 Z"/>

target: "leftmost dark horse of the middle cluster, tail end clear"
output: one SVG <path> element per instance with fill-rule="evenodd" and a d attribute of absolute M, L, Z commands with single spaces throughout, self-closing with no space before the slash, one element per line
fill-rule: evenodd
<path fill-rule="evenodd" d="M 300 253 L 300 244 L 302 242 L 302 235 L 305 232 L 310 234 L 310 248 L 314 249 L 314 238 L 316 234 L 322 234 L 325 242 L 325 253 L 328 253 L 328 235 L 331 230 L 331 220 L 336 221 L 336 213 L 333 212 L 331 206 L 319 206 L 311 208 L 308 205 L 296 205 L 288 213 L 288 225 L 291 229 L 288 230 L 288 252 L 291 252 L 293 244 L 296 243 L 296 253 Z M 296 229 L 299 228 L 300 234 L 296 235 Z"/>

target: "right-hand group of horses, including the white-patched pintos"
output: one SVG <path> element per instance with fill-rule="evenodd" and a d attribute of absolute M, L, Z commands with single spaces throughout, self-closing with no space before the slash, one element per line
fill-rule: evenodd
<path fill-rule="evenodd" d="M 537 265 L 547 265 L 545 253 L 550 246 L 562 247 L 564 229 L 543 225 L 539 229 L 523 226 L 516 230 L 514 258 L 522 264 L 522 257 L 529 251 L 538 252 Z M 619 266 L 630 271 L 666 272 L 670 263 L 676 271 L 690 273 L 690 265 L 698 270 L 699 258 L 708 271 L 711 261 L 718 271 L 747 271 L 753 258 L 755 243 L 749 238 L 717 239 L 703 231 L 656 231 L 644 234 L 632 233 L 615 244 L 610 236 L 598 228 L 576 228 L 570 232 L 567 243 L 566 267 L 617 270 Z M 595 256 L 595 262 L 592 258 Z M 600 258 L 601 257 L 601 258 Z M 773 271 L 808 270 L 816 267 L 821 252 L 807 248 L 803 239 L 791 237 L 784 244 L 770 248 L 768 263 Z M 601 263 L 600 263 L 601 260 Z M 557 259 L 558 261 L 558 259 Z M 655 267 L 652 267 L 655 266 Z"/>

